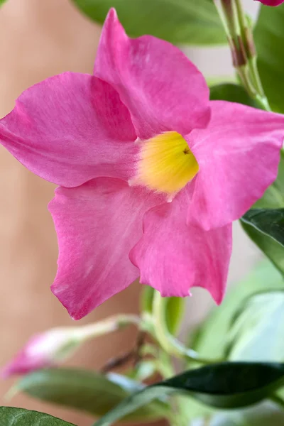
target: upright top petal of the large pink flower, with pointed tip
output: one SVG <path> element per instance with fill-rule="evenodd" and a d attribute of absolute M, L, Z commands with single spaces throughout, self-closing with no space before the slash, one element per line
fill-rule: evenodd
<path fill-rule="evenodd" d="M 94 74 L 119 92 L 140 138 L 186 134 L 209 121 L 209 89 L 197 67 L 166 41 L 129 38 L 114 9 L 104 23 Z"/>

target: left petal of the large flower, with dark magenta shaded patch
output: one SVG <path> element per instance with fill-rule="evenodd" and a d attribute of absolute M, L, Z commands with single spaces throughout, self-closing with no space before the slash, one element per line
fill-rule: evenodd
<path fill-rule="evenodd" d="M 119 94 L 65 72 L 27 89 L 0 121 L 0 141 L 33 173 L 65 187 L 133 175 L 136 133 Z"/>

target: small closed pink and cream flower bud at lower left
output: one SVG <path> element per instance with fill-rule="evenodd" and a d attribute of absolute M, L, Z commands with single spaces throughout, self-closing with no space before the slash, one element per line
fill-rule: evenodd
<path fill-rule="evenodd" d="M 4 378 L 26 374 L 63 361 L 80 345 L 75 328 L 55 328 L 35 334 L 12 361 L 3 368 Z"/>

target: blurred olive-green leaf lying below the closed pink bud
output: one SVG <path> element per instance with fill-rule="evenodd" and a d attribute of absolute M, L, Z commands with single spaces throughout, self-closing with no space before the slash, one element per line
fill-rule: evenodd
<path fill-rule="evenodd" d="M 104 415 L 143 385 L 119 374 L 102 376 L 94 371 L 50 368 L 24 376 L 17 388 L 33 398 Z M 167 407 L 155 402 L 143 410 L 133 411 L 127 420 L 156 420 L 163 417 Z"/>

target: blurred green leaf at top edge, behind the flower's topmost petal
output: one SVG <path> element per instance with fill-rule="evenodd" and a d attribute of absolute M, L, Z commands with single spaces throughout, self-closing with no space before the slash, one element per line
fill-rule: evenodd
<path fill-rule="evenodd" d="M 217 11 L 211 0 L 73 0 L 89 18 L 103 23 L 115 7 L 131 37 L 155 35 L 175 44 L 226 43 Z"/>

